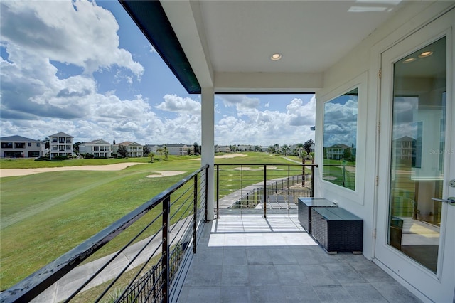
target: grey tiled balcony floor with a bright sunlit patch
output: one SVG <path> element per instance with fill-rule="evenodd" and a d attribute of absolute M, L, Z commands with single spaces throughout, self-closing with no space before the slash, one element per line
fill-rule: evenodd
<path fill-rule="evenodd" d="M 232 211 L 204 225 L 178 302 L 421 301 L 363 255 L 327 254 L 296 211 Z"/>

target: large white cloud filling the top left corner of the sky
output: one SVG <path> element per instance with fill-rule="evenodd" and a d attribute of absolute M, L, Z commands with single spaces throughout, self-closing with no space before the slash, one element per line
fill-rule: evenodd
<path fill-rule="evenodd" d="M 114 65 L 141 77 L 144 67 L 119 48 L 119 25 L 110 11 L 94 2 L 2 1 L 1 36 L 10 56 L 70 63 L 91 74 Z M 11 51 L 10 46 L 17 46 Z"/>

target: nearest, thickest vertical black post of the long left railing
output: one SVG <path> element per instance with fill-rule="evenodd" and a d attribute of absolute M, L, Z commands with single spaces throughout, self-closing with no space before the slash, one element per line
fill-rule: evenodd
<path fill-rule="evenodd" d="M 162 245 L 161 253 L 163 254 L 161 259 L 161 268 L 163 270 L 163 302 L 169 302 L 169 213 L 171 211 L 171 196 L 167 196 L 163 201 L 163 233 L 162 233 Z"/>

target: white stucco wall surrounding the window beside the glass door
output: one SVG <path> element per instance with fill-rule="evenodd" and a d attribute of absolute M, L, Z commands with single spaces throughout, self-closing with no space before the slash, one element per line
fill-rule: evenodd
<path fill-rule="evenodd" d="M 374 256 L 375 197 L 378 167 L 378 110 L 380 54 L 422 26 L 436 19 L 453 5 L 451 1 L 416 1 L 403 7 L 383 26 L 365 38 L 345 58 L 324 73 L 323 89 L 316 93 L 316 169 L 315 196 L 336 201 L 364 220 L 363 254 Z M 321 179 L 323 150 L 323 104 L 358 83 L 366 91 L 358 99 L 358 142 L 355 192 Z"/>

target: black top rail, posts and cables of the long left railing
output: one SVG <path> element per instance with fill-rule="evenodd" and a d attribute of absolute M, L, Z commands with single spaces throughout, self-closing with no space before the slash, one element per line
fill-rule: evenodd
<path fill-rule="evenodd" d="M 205 208 L 204 213 L 205 213 L 205 218 L 204 220 L 207 221 L 207 184 L 208 184 L 208 165 L 205 165 L 198 169 L 197 171 L 194 171 L 192 174 L 186 176 L 186 178 L 182 179 L 179 181 L 177 184 L 174 184 L 170 188 L 167 188 L 165 191 L 162 191 L 158 195 L 156 195 L 154 198 L 151 198 L 149 201 L 146 203 L 142 204 L 138 208 L 136 208 L 134 211 L 131 213 L 128 213 L 126 216 L 123 218 L 120 218 L 116 222 L 112 223 L 112 225 L 109 225 L 107 228 L 101 230 L 99 233 L 96 235 L 93 235 L 91 238 L 85 240 L 83 243 L 80 245 L 77 245 L 76 248 L 73 248 L 73 250 L 70 250 L 69 252 L 66 252 L 64 255 L 58 257 L 56 260 L 53 262 L 50 262 L 48 265 L 45 265 L 45 267 L 41 268 L 41 270 L 38 270 L 34 272 L 32 275 L 26 277 L 24 280 L 21 282 L 18 282 L 16 285 L 13 287 L 10 287 L 9 289 L 6 289 L 4 292 L 0 293 L 0 302 L 28 302 L 31 299 L 37 297 L 41 292 L 45 291 L 48 287 L 53 285 L 53 283 L 57 282 L 60 280 L 61 277 L 66 275 L 68 272 L 73 270 L 77 265 L 80 265 L 80 263 L 84 262 L 87 260 L 88 257 L 93 255 L 97 250 L 100 250 L 104 245 L 109 243 L 112 239 L 114 239 L 117 235 L 122 233 L 124 230 L 126 230 L 129 226 L 131 226 L 133 223 L 137 222 L 141 217 L 143 217 L 146 213 L 149 213 L 152 209 L 156 208 L 159 206 L 160 203 L 163 205 L 163 210 L 156 216 L 154 220 L 149 223 L 149 225 L 146 226 L 148 228 L 152 223 L 155 222 L 159 216 L 162 216 L 163 218 L 163 223 L 162 227 L 159 229 L 158 233 L 156 233 L 153 237 L 156 237 L 161 231 L 162 231 L 162 240 L 161 240 L 161 260 L 163 260 L 163 263 L 161 264 L 161 268 L 163 272 L 161 272 L 161 275 L 164 277 L 162 280 L 164 283 L 164 289 L 163 289 L 163 302 L 168 302 L 169 300 L 169 287 L 170 287 L 170 281 L 169 281 L 169 275 L 170 272 L 168 271 L 169 268 L 169 258 L 171 257 L 170 253 L 170 245 L 171 245 L 171 239 L 169 239 L 169 212 L 170 212 L 170 207 L 171 207 L 171 194 L 175 193 L 179 188 L 187 184 L 189 181 L 194 180 L 194 188 L 193 188 L 193 237 L 196 237 L 196 225 L 197 225 L 197 220 L 198 217 L 202 214 L 202 212 L 197 211 L 198 207 L 198 201 L 200 201 L 200 205 Z M 204 179 L 204 184 L 201 186 L 200 191 L 198 191 L 198 174 L 205 174 L 205 179 Z M 190 215 L 188 215 L 190 216 Z M 188 217 L 187 217 L 188 218 Z M 141 233 L 146 230 L 144 228 Z M 139 233 L 139 235 L 141 235 Z M 122 248 L 117 254 L 114 255 L 107 263 L 112 262 L 117 255 L 119 255 L 120 252 L 125 250 L 130 244 L 136 240 L 139 235 L 136 235 L 132 240 L 127 243 L 127 245 Z M 151 240 L 149 241 L 149 243 Z M 196 243 L 197 240 L 196 238 L 193 238 L 191 240 L 193 243 L 193 252 L 196 252 Z M 142 250 L 141 250 L 142 251 Z M 140 251 L 140 252 L 141 252 Z M 139 252 L 139 253 L 140 253 Z M 138 255 L 139 255 L 138 253 Z M 151 256 L 149 257 L 149 260 L 151 259 Z M 147 261 L 148 262 L 148 261 Z M 129 265 L 132 264 L 132 261 L 129 263 Z M 127 266 L 129 266 L 127 265 Z M 93 278 L 98 275 L 105 267 L 107 264 L 103 265 L 100 270 L 95 272 L 95 274 L 90 277 L 90 279 L 84 283 L 75 293 L 73 293 L 67 300 L 68 302 L 70 299 L 75 297 L 75 295 L 80 292 L 85 285 L 88 284 Z M 126 270 L 126 269 L 125 269 Z M 120 275 L 125 271 L 123 270 Z M 112 285 L 112 283 L 111 283 Z M 110 287 L 110 286 L 109 286 Z M 161 286 L 162 287 L 162 286 Z M 105 294 L 105 292 L 103 292 Z M 102 294 L 102 295 L 103 295 Z M 102 297 L 102 296 L 101 296 Z M 101 298 L 100 297 L 100 298 Z M 161 300 L 161 299 L 160 299 Z"/>

